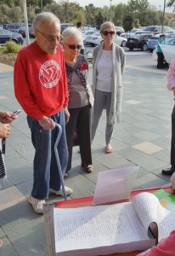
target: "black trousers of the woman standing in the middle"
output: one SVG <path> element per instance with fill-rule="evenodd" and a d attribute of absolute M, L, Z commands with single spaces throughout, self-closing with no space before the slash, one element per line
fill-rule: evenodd
<path fill-rule="evenodd" d="M 91 141 L 90 141 L 90 105 L 82 108 L 68 108 L 70 112 L 69 122 L 65 125 L 67 147 L 69 151 L 66 172 L 71 169 L 73 134 L 77 131 L 80 146 L 82 165 L 92 165 Z"/>

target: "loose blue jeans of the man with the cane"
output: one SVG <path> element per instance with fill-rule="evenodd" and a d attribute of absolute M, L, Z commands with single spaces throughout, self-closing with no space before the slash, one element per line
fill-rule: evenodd
<path fill-rule="evenodd" d="M 68 161 L 68 149 L 65 137 L 65 111 L 50 117 L 62 127 L 62 135 L 59 140 L 58 153 L 61 172 L 64 176 Z M 31 195 L 39 200 L 48 198 L 48 189 L 59 191 L 59 170 L 54 154 L 54 143 L 58 137 L 58 128 L 43 130 L 36 119 L 27 116 L 28 125 L 31 129 L 31 141 L 35 148 L 33 161 L 33 189 Z"/>

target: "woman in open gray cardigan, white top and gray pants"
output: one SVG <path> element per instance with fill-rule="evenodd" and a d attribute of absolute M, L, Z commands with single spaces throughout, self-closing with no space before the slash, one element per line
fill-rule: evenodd
<path fill-rule="evenodd" d="M 94 105 L 91 141 L 93 143 L 100 116 L 103 109 L 106 109 L 105 152 L 110 154 L 113 152 L 111 137 L 115 121 L 119 123 L 121 119 L 121 76 L 126 59 L 124 50 L 113 42 L 116 37 L 114 24 L 110 21 L 104 22 L 100 33 L 103 42 L 93 50 Z"/>

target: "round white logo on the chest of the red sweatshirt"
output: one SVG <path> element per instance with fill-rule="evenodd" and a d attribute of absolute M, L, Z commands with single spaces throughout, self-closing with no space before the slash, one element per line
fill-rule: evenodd
<path fill-rule="evenodd" d="M 61 75 L 59 63 L 54 60 L 42 64 L 39 72 L 39 79 L 46 88 L 52 88 L 58 84 Z"/>

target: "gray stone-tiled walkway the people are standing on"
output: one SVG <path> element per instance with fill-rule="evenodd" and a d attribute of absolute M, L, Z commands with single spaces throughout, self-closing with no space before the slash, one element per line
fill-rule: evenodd
<path fill-rule="evenodd" d="M 113 154 L 104 154 L 104 118 L 93 143 L 91 174 L 80 167 L 74 148 L 73 168 L 65 184 L 74 189 L 72 198 L 93 195 L 98 172 L 125 166 L 140 166 L 134 189 L 161 186 L 169 177 L 161 175 L 169 166 L 172 96 L 166 90 L 166 71 L 127 66 L 123 78 L 122 121 L 116 124 Z M 90 79 L 92 71 L 90 69 Z M 14 98 L 13 68 L 0 64 L 0 109 L 20 108 Z M 47 255 L 43 217 L 26 201 L 31 193 L 33 148 L 25 113 L 20 113 L 7 140 L 8 179 L 0 189 L 0 238 L 2 256 Z M 52 196 L 50 200 L 55 200 Z M 61 198 L 59 197 L 59 200 Z"/>

